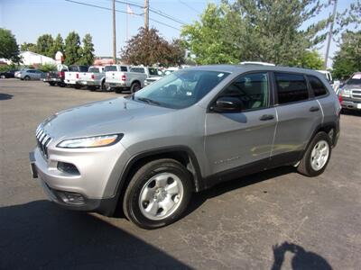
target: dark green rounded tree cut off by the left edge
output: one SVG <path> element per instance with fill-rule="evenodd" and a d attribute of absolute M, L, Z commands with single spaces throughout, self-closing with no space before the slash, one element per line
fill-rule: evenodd
<path fill-rule="evenodd" d="M 19 63 L 19 46 L 11 31 L 0 28 L 0 58 L 10 59 L 14 63 Z"/>

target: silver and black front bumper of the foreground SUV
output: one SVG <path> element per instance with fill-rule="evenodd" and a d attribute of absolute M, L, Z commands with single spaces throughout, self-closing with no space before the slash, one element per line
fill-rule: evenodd
<path fill-rule="evenodd" d="M 114 173 L 115 167 L 125 164 L 129 158 L 120 143 L 107 149 L 50 149 L 48 159 L 42 156 L 39 148 L 35 148 L 29 157 L 32 176 L 40 178 L 42 188 L 52 202 L 71 210 L 106 215 L 115 211 L 116 186 L 120 179 L 120 175 Z M 60 162 L 73 164 L 79 174 L 61 171 Z"/>

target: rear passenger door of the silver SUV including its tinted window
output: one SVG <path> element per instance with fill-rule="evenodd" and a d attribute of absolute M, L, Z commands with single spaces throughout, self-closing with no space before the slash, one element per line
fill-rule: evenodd
<path fill-rule="evenodd" d="M 323 115 L 303 74 L 275 72 L 274 90 L 278 122 L 272 166 L 278 166 L 301 159 Z"/>

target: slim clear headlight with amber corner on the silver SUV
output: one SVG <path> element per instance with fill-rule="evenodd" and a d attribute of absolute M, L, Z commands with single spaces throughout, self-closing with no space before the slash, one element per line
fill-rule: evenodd
<path fill-rule="evenodd" d="M 116 144 L 123 138 L 123 134 L 105 135 L 80 139 L 65 139 L 61 141 L 58 148 L 99 148 Z"/>

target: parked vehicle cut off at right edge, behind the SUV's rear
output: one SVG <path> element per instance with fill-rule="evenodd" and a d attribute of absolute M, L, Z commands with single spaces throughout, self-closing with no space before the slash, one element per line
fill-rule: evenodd
<path fill-rule="evenodd" d="M 361 110 L 361 72 L 354 73 L 340 87 L 339 97 L 343 110 Z"/>

